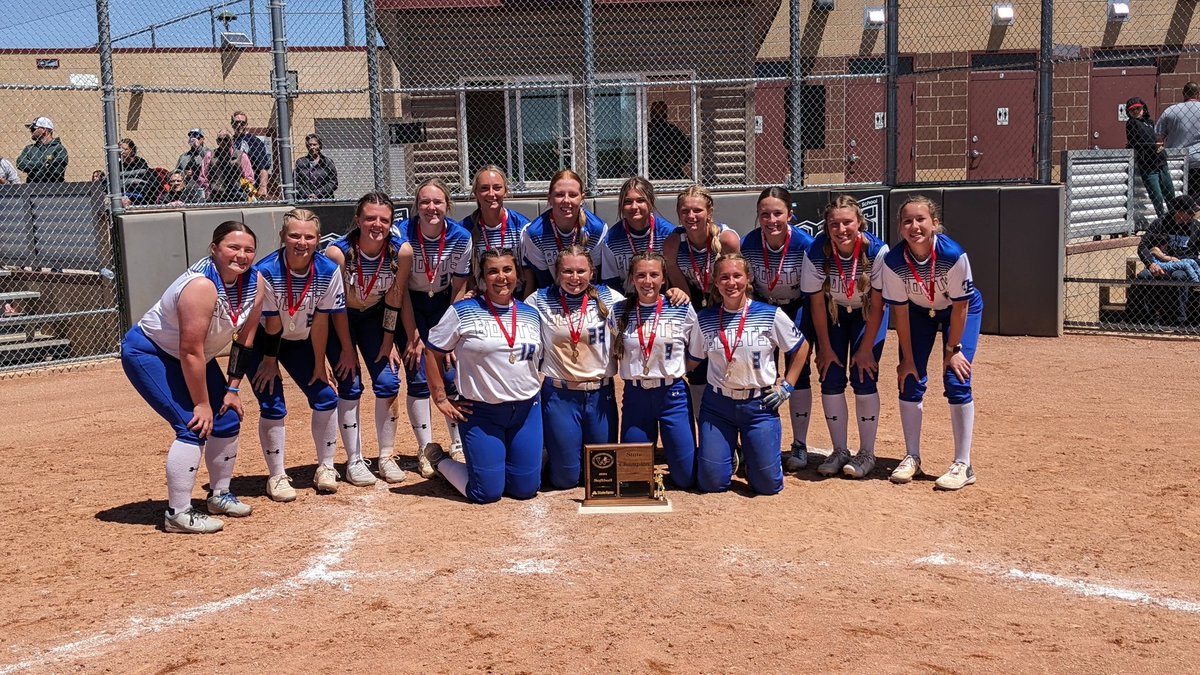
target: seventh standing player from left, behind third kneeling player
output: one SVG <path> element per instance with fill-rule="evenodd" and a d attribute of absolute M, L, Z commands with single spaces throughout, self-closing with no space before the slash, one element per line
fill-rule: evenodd
<path fill-rule="evenodd" d="M 600 261 L 600 279 L 605 286 L 631 293 L 634 289 L 625 286 L 630 259 L 647 251 L 661 255 L 676 226 L 655 215 L 654 186 L 640 175 L 622 184 L 619 199 L 620 222 L 605 233 L 595 258 Z"/>

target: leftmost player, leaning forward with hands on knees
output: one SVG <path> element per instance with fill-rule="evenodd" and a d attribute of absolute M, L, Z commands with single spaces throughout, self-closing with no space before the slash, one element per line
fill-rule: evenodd
<path fill-rule="evenodd" d="M 209 470 L 209 513 L 251 512 L 229 491 L 229 480 L 242 417 L 238 392 L 263 307 L 263 280 L 252 268 L 254 246 L 248 227 L 222 222 L 212 232 L 209 257 L 176 279 L 121 342 L 130 383 L 175 431 L 167 450 L 167 532 L 223 527 L 192 508 L 202 454 Z M 216 357 L 230 340 L 226 380 Z"/>

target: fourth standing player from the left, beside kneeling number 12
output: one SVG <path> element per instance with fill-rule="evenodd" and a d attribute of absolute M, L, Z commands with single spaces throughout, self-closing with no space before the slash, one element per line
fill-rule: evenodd
<path fill-rule="evenodd" d="M 416 437 L 418 470 L 425 478 L 434 476 L 433 467 L 420 461 L 420 450 L 433 442 L 430 410 L 430 388 L 425 380 L 425 339 L 430 329 L 442 321 L 446 309 L 461 300 L 467 292 L 470 275 L 470 234 L 450 213 L 450 189 L 438 179 L 430 179 L 416 187 L 416 215 L 396 223 L 404 245 L 400 250 L 397 283 L 408 293 L 401 319 L 404 327 L 400 348 L 404 352 L 404 377 L 408 383 L 406 407 L 408 422 Z M 454 356 L 450 357 L 454 380 Z M 452 389 L 452 387 L 451 387 Z M 450 431 L 450 456 L 462 461 L 462 438 L 458 424 L 446 418 Z"/>

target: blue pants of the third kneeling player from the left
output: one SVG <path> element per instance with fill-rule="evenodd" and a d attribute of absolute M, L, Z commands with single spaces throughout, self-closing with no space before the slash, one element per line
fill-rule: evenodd
<path fill-rule="evenodd" d="M 676 380 L 665 387 L 642 389 L 626 382 L 620 402 L 620 442 L 658 443 L 660 431 L 671 482 L 680 490 L 691 489 L 696 484 L 696 437 L 688 384 Z"/>

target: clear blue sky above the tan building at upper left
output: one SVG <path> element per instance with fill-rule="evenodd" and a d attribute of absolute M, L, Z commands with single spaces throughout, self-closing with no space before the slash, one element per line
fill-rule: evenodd
<path fill-rule="evenodd" d="M 5 48 L 54 49 L 90 47 L 96 43 L 95 0 L 5 0 L 0 13 L 0 46 Z M 250 2 L 220 0 L 180 0 L 175 2 L 150 0 L 109 0 L 109 22 L 113 37 L 132 32 L 150 24 L 191 13 L 211 5 L 228 5 L 238 14 L 229 30 L 250 34 Z M 355 44 L 362 44 L 362 0 L 354 0 Z M 266 0 L 254 0 L 257 43 L 271 44 L 271 23 Z M 220 13 L 220 12 L 218 12 Z M 284 5 L 288 44 L 342 44 L 341 0 L 288 0 Z M 209 18 L 186 19 L 157 31 L 158 47 L 211 47 Z M 218 29 L 220 29 L 220 24 Z M 150 36 L 140 35 L 119 41 L 115 47 L 150 47 Z"/>

